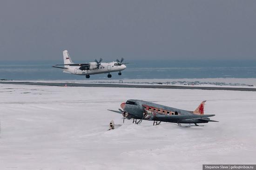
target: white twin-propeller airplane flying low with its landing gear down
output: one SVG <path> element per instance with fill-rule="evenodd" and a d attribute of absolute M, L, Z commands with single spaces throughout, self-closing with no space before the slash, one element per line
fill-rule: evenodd
<path fill-rule="evenodd" d="M 112 75 L 110 72 L 118 72 L 118 75 L 121 75 L 121 71 L 126 69 L 127 63 L 122 63 L 121 61 L 116 59 L 116 61 L 110 63 L 101 63 L 102 59 L 99 61 L 95 59 L 94 62 L 91 63 L 73 63 L 67 50 L 63 51 L 63 59 L 64 64 L 54 65 L 55 68 L 63 69 L 63 72 L 76 74 L 76 75 L 85 75 L 86 78 L 90 78 L 91 74 L 101 74 L 108 73 L 108 78 L 111 78 Z"/>

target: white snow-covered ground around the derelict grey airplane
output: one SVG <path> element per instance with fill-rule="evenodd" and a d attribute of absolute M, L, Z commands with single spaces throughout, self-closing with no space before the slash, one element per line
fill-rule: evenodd
<path fill-rule="evenodd" d="M 117 110 L 127 99 L 185 110 L 208 100 L 199 127 L 142 121 Z M 108 130 L 111 120 L 116 129 Z M 198 170 L 251 163 L 256 92 L 0 84 L 0 170 Z"/>

